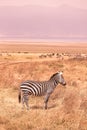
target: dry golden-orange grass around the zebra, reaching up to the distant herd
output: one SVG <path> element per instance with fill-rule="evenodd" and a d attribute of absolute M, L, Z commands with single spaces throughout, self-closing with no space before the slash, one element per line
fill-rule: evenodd
<path fill-rule="evenodd" d="M 87 130 L 87 60 L 39 59 L 38 54 L 33 53 L 32 60 L 27 61 L 24 53 L 22 58 L 11 53 L 14 60 L 8 55 L 4 59 L 2 54 L 0 130 Z M 22 110 L 18 103 L 20 83 L 27 79 L 48 80 L 60 70 L 64 71 L 67 86 L 55 89 L 48 109 L 43 109 L 44 97 L 31 96 L 30 110 Z"/>

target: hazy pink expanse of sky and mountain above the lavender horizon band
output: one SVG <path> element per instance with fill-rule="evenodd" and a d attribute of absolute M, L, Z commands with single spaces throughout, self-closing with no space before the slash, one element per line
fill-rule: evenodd
<path fill-rule="evenodd" d="M 3 37 L 87 39 L 87 0 L 0 0 Z"/>

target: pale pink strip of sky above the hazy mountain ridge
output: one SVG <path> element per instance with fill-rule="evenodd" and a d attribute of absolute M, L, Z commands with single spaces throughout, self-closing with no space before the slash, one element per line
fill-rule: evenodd
<path fill-rule="evenodd" d="M 0 6 L 2 5 L 60 6 L 62 4 L 72 5 L 78 8 L 87 9 L 87 0 L 0 0 Z"/>

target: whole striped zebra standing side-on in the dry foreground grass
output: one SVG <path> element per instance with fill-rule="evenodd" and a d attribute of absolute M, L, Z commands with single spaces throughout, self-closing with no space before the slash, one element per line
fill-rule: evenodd
<path fill-rule="evenodd" d="M 21 99 L 22 99 L 23 108 L 25 104 L 27 109 L 29 109 L 29 105 L 28 105 L 29 95 L 34 95 L 34 96 L 45 95 L 44 109 L 47 109 L 47 103 L 48 103 L 49 97 L 53 93 L 58 83 L 62 84 L 63 86 L 66 85 L 62 72 L 57 72 L 53 74 L 50 77 L 50 79 L 47 81 L 28 80 L 28 81 L 23 82 L 19 88 L 19 96 L 18 96 L 19 103 L 21 102 Z"/>

